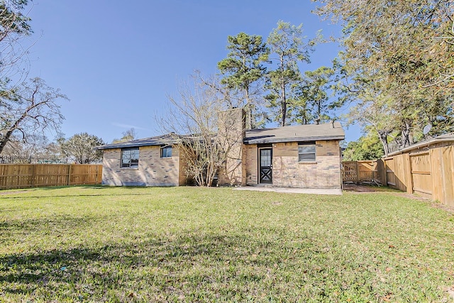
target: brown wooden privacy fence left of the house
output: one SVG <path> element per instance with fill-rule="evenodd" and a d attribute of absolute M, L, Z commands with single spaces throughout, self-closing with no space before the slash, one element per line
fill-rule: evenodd
<path fill-rule="evenodd" d="M 0 189 L 100 184 L 102 165 L 0 164 Z"/>

